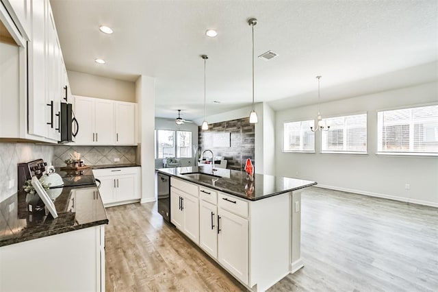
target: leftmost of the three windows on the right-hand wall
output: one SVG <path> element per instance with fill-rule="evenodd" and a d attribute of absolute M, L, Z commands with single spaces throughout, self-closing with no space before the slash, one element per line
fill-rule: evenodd
<path fill-rule="evenodd" d="M 286 152 L 315 152 L 315 133 L 310 127 L 314 120 L 284 123 L 284 146 Z"/>

